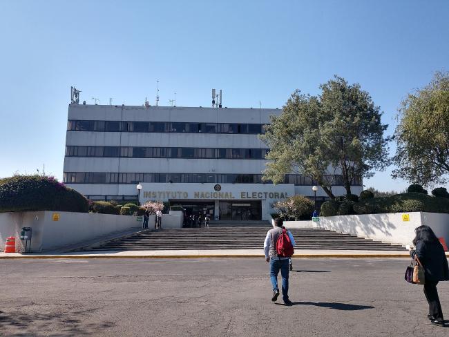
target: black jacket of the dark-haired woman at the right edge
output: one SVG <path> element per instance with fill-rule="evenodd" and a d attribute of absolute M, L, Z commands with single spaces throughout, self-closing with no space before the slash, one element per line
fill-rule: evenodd
<path fill-rule="evenodd" d="M 439 242 L 417 242 L 417 248 L 410 251 L 414 258 L 416 254 L 423 264 L 426 280 L 447 281 L 449 280 L 448 259 L 444 253 L 443 246 Z"/>

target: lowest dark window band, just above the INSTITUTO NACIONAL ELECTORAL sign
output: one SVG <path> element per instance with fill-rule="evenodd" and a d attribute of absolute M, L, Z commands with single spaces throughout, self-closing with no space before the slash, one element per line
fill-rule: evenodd
<path fill-rule="evenodd" d="M 343 184 L 341 175 L 335 176 L 336 183 Z M 104 173 L 65 172 L 64 182 L 68 184 L 138 184 L 139 182 L 188 182 L 218 184 L 262 184 L 261 174 L 216 174 L 216 173 Z M 313 185 L 314 181 L 303 175 L 285 175 L 285 184 Z M 360 185 L 358 180 L 354 185 Z"/>

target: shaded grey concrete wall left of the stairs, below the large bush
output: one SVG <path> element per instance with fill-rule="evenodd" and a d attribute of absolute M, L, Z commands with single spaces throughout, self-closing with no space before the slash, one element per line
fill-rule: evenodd
<path fill-rule="evenodd" d="M 53 221 L 54 213 L 59 214 L 58 221 Z M 127 215 L 53 211 L 0 213 L 0 247 L 5 246 L 6 238 L 15 236 L 16 249 L 21 250 L 22 227 L 32 228 L 31 250 L 39 252 L 82 244 L 128 229 L 137 231 L 142 223 Z"/>

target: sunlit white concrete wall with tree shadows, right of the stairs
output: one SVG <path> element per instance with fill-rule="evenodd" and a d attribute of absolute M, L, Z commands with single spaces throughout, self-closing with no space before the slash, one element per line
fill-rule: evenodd
<path fill-rule="evenodd" d="M 408 214 L 409 221 L 403 221 Z M 332 231 L 362 236 L 374 240 L 398 244 L 412 244 L 414 229 L 426 224 L 439 238 L 449 242 L 449 214 L 442 213 L 385 213 L 363 215 L 340 215 L 320 217 L 320 222 L 286 221 L 287 228 L 324 228 Z"/>

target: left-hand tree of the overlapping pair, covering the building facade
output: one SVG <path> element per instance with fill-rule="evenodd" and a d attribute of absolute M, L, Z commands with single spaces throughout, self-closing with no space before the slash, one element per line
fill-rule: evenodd
<path fill-rule="evenodd" d="M 321 106 L 317 97 L 295 90 L 279 116 L 271 116 L 260 139 L 270 151 L 263 180 L 275 184 L 284 181 L 287 173 L 302 174 L 319 184 L 334 199 L 334 175 L 327 175 L 330 160 L 325 156 L 325 142 L 321 137 Z"/>

